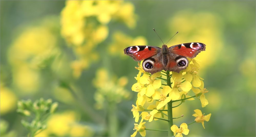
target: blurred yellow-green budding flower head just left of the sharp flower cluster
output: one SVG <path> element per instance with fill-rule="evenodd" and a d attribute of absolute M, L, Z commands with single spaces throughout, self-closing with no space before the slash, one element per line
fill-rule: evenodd
<path fill-rule="evenodd" d="M 94 94 L 96 108 L 103 108 L 106 101 L 119 103 L 123 99 L 128 99 L 130 93 L 124 88 L 127 83 L 126 77 L 117 79 L 114 76 L 111 77 L 106 69 L 98 69 L 96 78 L 93 80 L 93 84 L 97 88 Z"/>

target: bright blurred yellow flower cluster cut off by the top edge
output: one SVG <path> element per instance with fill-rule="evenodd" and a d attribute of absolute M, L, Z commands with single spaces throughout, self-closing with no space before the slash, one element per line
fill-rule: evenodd
<path fill-rule="evenodd" d="M 124 1 L 67 1 L 61 13 L 61 33 L 73 48 L 77 60 L 71 67 L 74 77 L 98 59 L 95 47 L 103 42 L 109 33 L 107 24 L 111 20 L 124 22 L 135 27 L 134 6 Z"/>

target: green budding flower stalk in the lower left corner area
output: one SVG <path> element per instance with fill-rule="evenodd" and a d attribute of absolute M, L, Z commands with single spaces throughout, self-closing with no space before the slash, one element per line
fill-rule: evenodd
<path fill-rule="evenodd" d="M 28 136 L 35 136 L 46 128 L 47 118 L 53 114 L 58 107 L 57 102 L 51 99 L 40 98 L 34 103 L 30 99 L 18 101 L 17 112 L 32 119 L 30 122 L 22 120 L 22 125 L 29 131 Z"/>

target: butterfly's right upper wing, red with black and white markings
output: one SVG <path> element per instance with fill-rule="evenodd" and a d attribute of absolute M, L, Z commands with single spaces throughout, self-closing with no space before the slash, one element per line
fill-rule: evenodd
<path fill-rule="evenodd" d="M 192 43 L 184 43 L 179 45 L 174 45 L 169 47 L 172 53 L 194 58 L 196 57 L 201 51 L 205 51 L 205 44 L 199 42 L 192 42 Z"/>

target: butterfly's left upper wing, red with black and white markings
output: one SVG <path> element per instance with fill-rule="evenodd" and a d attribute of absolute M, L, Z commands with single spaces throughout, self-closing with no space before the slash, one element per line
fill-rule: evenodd
<path fill-rule="evenodd" d="M 159 51 L 161 48 L 155 46 L 131 46 L 124 49 L 124 53 L 131 56 L 135 61 L 152 57 Z"/>

